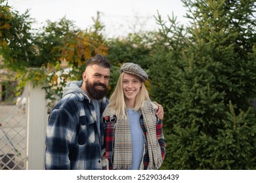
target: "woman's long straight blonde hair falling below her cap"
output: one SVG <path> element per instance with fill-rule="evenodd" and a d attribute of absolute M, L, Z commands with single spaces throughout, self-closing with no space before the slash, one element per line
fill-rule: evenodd
<path fill-rule="evenodd" d="M 109 108 L 116 110 L 117 118 L 122 118 L 125 115 L 126 105 L 125 105 L 125 97 L 123 93 L 123 75 L 124 74 L 125 73 L 121 73 L 119 75 L 116 88 L 112 93 L 112 95 L 110 96 L 110 104 L 108 106 Z M 142 81 L 140 80 L 140 82 Z M 135 111 L 140 110 L 140 108 L 142 107 L 142 103 L 145 100 L 150 100 L 150 97 L 148 95 L 148 90 L 146 90 L 146 86 L 144 85 L 144 82 L 142 82 L 142 86 L 136 97 L 135 108 L 133 109 Z"/>

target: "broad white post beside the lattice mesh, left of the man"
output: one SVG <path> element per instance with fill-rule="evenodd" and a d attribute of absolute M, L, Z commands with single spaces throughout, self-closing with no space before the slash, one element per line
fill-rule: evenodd
<path fill-rule="evenodd" d="M 47 101 L 41 86 L 33 88 L 27 82 L 27 169 L 45 169 L 45 131 L 47 126 Z"/>

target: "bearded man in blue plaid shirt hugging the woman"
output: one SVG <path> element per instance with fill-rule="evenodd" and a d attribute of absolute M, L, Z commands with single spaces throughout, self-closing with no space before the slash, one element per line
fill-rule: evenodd
<path fill-rule="evenodd" d="M 110 61 L 97 54 L 87 60 L 83 80 L 69 82 L 49 116 L 45 169 L 100 170 L 104 149 L 102 113 L 110 80 Z M 163 118 L 163 108 L 156 113 Z"/>

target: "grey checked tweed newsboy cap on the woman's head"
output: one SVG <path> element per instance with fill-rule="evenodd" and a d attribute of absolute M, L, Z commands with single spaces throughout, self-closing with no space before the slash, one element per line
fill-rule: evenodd
<path fill-rule="evenodd" d="M 119 73 L 129 73 L 131 75 L 139 76 L 142 82 L 145 82 L 148 79 L 146 72 L 136 63 L 123 63 Z"/>

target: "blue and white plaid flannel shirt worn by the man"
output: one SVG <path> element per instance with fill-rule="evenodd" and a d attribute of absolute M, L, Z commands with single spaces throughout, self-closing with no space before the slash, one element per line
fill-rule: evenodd
<path fill-rule="evenodd" d="M 68 93 L 53 108 L 47 125 L 45 169 L 102 169 L 102 112 L 84 93 Z M 96 111 L 100 116 L 96 117 Z"/>

